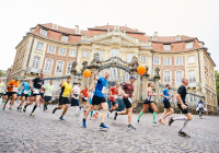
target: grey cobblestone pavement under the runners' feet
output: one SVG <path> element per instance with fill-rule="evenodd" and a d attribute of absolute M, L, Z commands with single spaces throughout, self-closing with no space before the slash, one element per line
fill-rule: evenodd
<path fill-rule="evenodd" d="M 110 130 L 100 131 L 100 117 L 87 120 L 88 128 L 82 128 L 83 114 L 74 116 L 76 107 L 70 107 L 65 116 L 66 121 L 59 121 L 62 110 L 51 114 L 55 105 L 48 110 L 37 107 L 35 118 L 30 117 L 33 108 L 26 113 L 13 109 L 0 109 L 0 152 L 219 152 L 219 117 L 204 116 L 200 119 L 193 116 L 186 132 L 192 138 L 177 136 L 183 121 L 152 126 L 152 114 L 143 114 L 139 123 L 137 114 L 132 115 L 132 126 L 136 131 L 127 129 L 127 116 L 118 116 L 117 120 L 105 118 Z M 161 114 L 157 116 L 159 118 Z M 180 116 L 180 115 L 173 115 Z"/>

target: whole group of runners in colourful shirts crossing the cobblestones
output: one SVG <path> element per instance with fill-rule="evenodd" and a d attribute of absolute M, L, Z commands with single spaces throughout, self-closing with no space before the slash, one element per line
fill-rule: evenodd
<path fill-rule="evenodd" d="M 104 76 L 97 78 L 97 73 L 99 71 L 94 72 L 94 80 L 96 82 L 94 82 L 94 86 L 89 89 L 88 86 L 85 86 L 84 90 L 82 90 L 80 92 L 80 86 L 81 84 L 78 83 L 76 86 L 72 87 L 71 85 L 71 76 L 67 78 L 67 81 L 62 81 L 60 83 L 60 95 L 59 95 L 59 103 L 58 106 L 56 106 L 53 109 L 53 114 L 56 113 L 56 110 L 58 109 L 62 109 L 62 114 L 60 116 L 60 120 L 65 120 L 64 116 L 68 110 L 69 107 L 69 97 L 72 97 L 72 104 L 77 105 L 77 110 L 76 110 L 76 116 L 79 116 L 79 109 L 81 107 L 83 107 L 83 113 L 84 113 L 84 117 L 82 119 L 82 126 L 85 128 L 87 127 L 87 118 L 91 113 L 91 119 L 93 119 L 94 117 L 97 117 L 97 113 L 100 109 L 102 109 L 102 116 L 101 116 L 101 123 L 100 123 L 100 129 L 101 130 L 106 130 L 108 129 L 108 127 L 104 123 L 104 119 L 106 116 L 106 110 L 107 110 L 107 103 L 106 103 L 106 94 L 110 94 L 110 102 L 112 103 L 112 108 L 110 109 L 107 116 L 112 117 L 112 113 L 118 108 L 118 104 L 116 103 L 116 99 L 118 96 L 123 96 L 123 102 L 125 104 L 125 110 L 124 111 L 119 111 L 119 113 L 115 113 L 114 116 L 114 120 L 117 119 L 118 116 L 122 115 L 128 115 L 128 129 L 134 129 L 136 130 L 136 128 L 131 125 L 131 116 L 132 116 L 132 97 L 135 97 L 134 94 L 134 83 L 137 80 L 135 76 L 130 76 L 129 78 L 129 82 L 126 82 L 123 84 L 120 92 L 118 92 L 118 89 L 120 86 L 120 83 L 116 83 L 115 86 L 113 86 L 110 90 L 107 89 L 107 84 L 108 81 L 107 79 L 110 78 L 111 71 L 105 71 Z M 1 92 L 1 96 L 3 97 L 3 109 L 5 108 L 7 103 L 9 102 L 9 99 L 11 98 L 11 103 L 10 103 L 10 110 L 12 109 L 12 105 L 16 98 L 16 93 L 19 90 L 19 84 L 20 84 L 20 79 L 16 78 L 15 80 L 10 81 L 7 85 L 2 84 L 2 80 L 0 79 L 0 92 Z M 31 113 L 31 116 L 34 116 L 34 111 L 38 106 L 38 103 L 41 101 L 41 93 L 39 91 L 43 89 L 44 85 L 44 73 L 41 73 L 38 78 L 35 78 L 34 80 L 28 79 L 27 82 L 24 82 L 21 85 L 21 94 L 22 94 L 22 101 L 20 106 L 18 107 L 18 109 L 22 109 L 22 106 L 24 104 L 24 102 L 26 101 L 26 104 L 23 108 L 23 111 L 26 110 L 26 107 L 28 105 L 32 105 L 33 102 L 35 101 L 35 105 L 33 107 L 33 110 Z M 169 120 L 169 126 L 171 126 L 175 120 L 184 120 L 184 125 L 183 128 L 178 131 L 180 136 L 183 137 L 189 137 L 188 134 L 186 134 L 184 132 L 185 127 L 187 126 L 188 121 L 192 120 L 192 115 L 189 113 L 189 108 L 186 104 L 186 86 L 188 85 L 188 80 L 186 78 L 182 79 L 182 85 L 178 87 L 177 90 L 177 94 L 176 94 L 176 99 L 178 102 L 178 108 L 182 110 L 182 113 L 185 115 L 183 117 L 171 117 Z M 146 110 L 150 108 L 153 110 L 153 125 L 158 125 L 157 123 L 157 113 L 158 109 L 155 107 L 154 104 L 154 96 L 157 96 L 158 94 L 153 91 L 153 82 L 149 82 L 148 83 L 148 89 L 147 89 L 147 97 L 143 102 L 143 108 L 142 110 L 139 113 L 137 122 L 140 122 L 140 117 L 142 116 L 143 113 L 146 113 Z M 161 118 L 159 119 L 160 123 L 166 123 L 165 118 L 168 116 L 170 116 L 171 114 L 173 114 L 173 108 L 171 107 L 171 103 L 170 103 L 170 98 L 172 98 L 174 95 L 170 94 L 170 89 L 171 85 L 166 84 L 165 85 L 166 89 L 161 93 L 160 96 L 163 97 L 163 104 L 164 104 L 164 113 L 162 114 Z M 7 91 L 7 93 L 4 93 L 4 91 Z M 51 102 L 51 96 L 54 93 L 54 85 L 53 85 L 53 81 L 49 82 L 49 84 L 47 84 L 45 87 L 45 103 L 44 103 L 44 110 L 47 109 L 47 105 Z M 82 106 L 79 106 L 79 96 L 82 96 Z M 4 102 L 5 99 L 5 102 Z M 87 102 L 90 102 L 90 106 L 88 109 L 85 109 L 85 105 Z M 95 105 L 99 105 L 99 108 L 96 109 L 96 113 L 94 114 L 94 107 Z"/>

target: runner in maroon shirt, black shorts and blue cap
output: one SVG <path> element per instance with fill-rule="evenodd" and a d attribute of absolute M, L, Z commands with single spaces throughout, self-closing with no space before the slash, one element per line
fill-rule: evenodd
<path fill-rule="evenodd" d="M 123 84 L 120 93 L 123 94 L 123 101 L 126 105 L 126 109 L 125 109 L 125 111 L 122 111 L 122 113 L 115 113 L 115 117 L 114 117 L 114 120 L 116 120 L 118 115 L 128 115 L 128 127 L 127 128 L 134 129 L 134 130 L 136 130 L 136 128 L 134 126 L 131 126 L 131 115 L 132 115 L 131 97 L 135 97 L 134 83 L 136 80 L 137 79 L 135 76 L 130 76 L 129 82 Z"/>

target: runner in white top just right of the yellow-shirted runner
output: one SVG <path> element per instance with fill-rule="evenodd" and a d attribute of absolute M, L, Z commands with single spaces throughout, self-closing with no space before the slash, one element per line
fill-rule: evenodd
<path fill-rule="evenodd" d="M 73 86 L 72 90 L 72 99 L 71 99 L 71 106 L 73 106 L 73 104 L 77 105 L 76 107 L 76 116 L 79 116 L 79 95 L 80 95 L 80 87 L 81 87 L 81 83 L 78 83 L 76 86 Z"/>

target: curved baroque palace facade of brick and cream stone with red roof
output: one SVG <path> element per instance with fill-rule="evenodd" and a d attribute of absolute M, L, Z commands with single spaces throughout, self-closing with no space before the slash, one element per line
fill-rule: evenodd
<path fill-rule="evenodd" d="M 37 24 L 15 47 L 16 56 L 11 79 L 23 80 L 44 72 L 46 78 L 69 75 L 77 60 L 78 71 L 82 62 L 91 62 L 99 52 L 102 60 L 117 56 L 130 62 L 134 56 L 140 64 L 148 66 L 150 76 L 160 68 L 160 82 L 177 87 L 182 76 L 189 79 L 188 91 L 205 97 L 208 109 L 217 110 L 215 62 L 204 43 L 185 35 L 148 36 L 127 26 L 104 25 L 82 31 L 76 25 L 67 28 L 57 24 Z M 112 71 L 117 75 L 117 71 Z M 125 75 L 126 76 L 126 75 Z"/>

